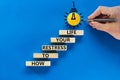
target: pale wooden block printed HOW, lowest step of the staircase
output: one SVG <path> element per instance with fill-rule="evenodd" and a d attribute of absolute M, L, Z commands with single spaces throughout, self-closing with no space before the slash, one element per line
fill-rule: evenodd
<path fill-rule="evenodd" d="M 50 61 L 26 61 L 27 67 L 51 66 Z"/>

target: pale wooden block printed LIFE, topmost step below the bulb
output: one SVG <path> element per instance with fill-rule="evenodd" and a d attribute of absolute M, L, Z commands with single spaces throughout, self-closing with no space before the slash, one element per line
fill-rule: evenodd
<path fill-rule="evenodd" d="M 59 35 L 81 36 L 84 35 L 84 30 L 59 30 Z"/>

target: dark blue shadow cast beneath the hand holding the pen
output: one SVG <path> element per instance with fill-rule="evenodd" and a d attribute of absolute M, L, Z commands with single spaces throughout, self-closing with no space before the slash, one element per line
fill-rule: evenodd
<path fill-rule="evenodd" d="M 113 38 L 106 32 L 98 31 L 91 28 L 89 25 L 86 25 L 92 35 L 95 37 L 97 42 L 99 42 L 103 47 L 106 47 L 113 54 L 120 54 L 120 41 Z"/>

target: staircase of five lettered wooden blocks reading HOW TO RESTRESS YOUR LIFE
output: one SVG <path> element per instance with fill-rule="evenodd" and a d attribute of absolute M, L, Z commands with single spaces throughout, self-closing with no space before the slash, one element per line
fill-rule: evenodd
<path fill-rule="evenodd" d="M 51 37 L 51 43 L 54 45 L 42 45 L 42 50 L 46 53 L 34 53 L 33 58 L 35 59 L 49 59 L 59 58 L 59 51 L 67 51 L 68 43 L 75 43 L 76 38 L 75 36 L 82 36 L 84 35 L 83 30 L 59 30 L 59 35 L 61 37 Z M 53 53 L 54 51 L 57 51 Z M 48 53 L 49 52 L 49 53 Z M 51 61 L 26 61 L 27 67 L 40 67 L 40 66 L 51 66 Z"/>

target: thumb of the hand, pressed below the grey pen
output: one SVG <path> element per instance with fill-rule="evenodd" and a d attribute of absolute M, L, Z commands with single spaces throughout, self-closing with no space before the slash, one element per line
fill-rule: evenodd
<path fill-rule="evenodd" d="M 107 30 L 106 24 L 102 24 L 102 23 L 99 23 L 99 22 L 91 22 L 90 25 L 93 28 L 96 28 L 97 30 L 101 30 L 101 31 L 106 31 Z"/>

